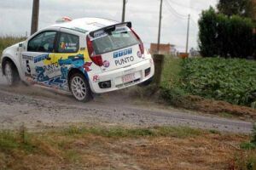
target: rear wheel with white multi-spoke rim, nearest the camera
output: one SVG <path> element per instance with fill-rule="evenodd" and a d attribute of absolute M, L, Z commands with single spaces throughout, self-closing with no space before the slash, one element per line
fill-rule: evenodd
<path fill-rule="evenodd" d="M 92 99 L 89 82 L 83 74 L 74 73 L 69 80 L 69 88 L 75 99 L 81 102 L 89 102 Z"/>

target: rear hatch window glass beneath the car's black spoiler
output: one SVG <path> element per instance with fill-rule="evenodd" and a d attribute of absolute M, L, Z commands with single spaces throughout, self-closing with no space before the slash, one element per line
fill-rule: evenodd
<path fill-rule="evenodd" d="M 107 36 L 96 38 L 93 47 L 96 54 L 105 54 L 138 43 L 137 37 L 131 31 L 112 31 Z"/>

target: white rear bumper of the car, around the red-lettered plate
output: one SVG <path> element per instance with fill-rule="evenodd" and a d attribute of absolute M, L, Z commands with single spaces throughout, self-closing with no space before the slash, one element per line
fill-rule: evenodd
<path fill-rule="evenodd" d="M 150 73 L 145 75 L 145 71 L 150 68 Z M 134 79 L 131 82 L 123 82 L 123 77 L 134 74 Z M 102 94 L 111 92 L 121 88 L 128 88 L 137 85 L 141 82 L 147 81 L 154 76 L 154 62 L 153 59 L 146 59 L 135 65 L 117 69 L 114 71 L 103 72 L 101 74 L 90 76 L 90 89 L 95 94 Z M 97 78 L 96 78 L 97 77 Z M 99 82 L 111 82 L 110 88 L 100 88 Z"/>

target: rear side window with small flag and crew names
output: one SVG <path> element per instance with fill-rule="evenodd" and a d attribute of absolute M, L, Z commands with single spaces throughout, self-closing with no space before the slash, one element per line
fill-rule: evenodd
<path fill-rule="evenodd" d="M 79 51 L 79 37 L 61 32 L 58 44 L 58 53 L 76 53 Z"/>

